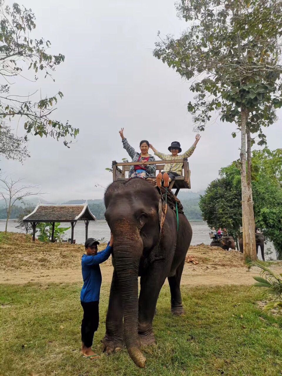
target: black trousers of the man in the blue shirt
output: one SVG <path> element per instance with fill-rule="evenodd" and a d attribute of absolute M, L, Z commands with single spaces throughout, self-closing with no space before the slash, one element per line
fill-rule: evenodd
<path fill-rule="evenodd" d="M 91 347 L 94 333 L 99 326 L 99 300 L 97 302 L 81 302 L 83 318 L 81 322 L 81 341 Z"/>

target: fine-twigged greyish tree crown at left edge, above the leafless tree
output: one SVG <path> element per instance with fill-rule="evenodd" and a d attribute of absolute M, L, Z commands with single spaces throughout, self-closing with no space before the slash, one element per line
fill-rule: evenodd
<path fill-rule="evenodd" d="M 27 151 L 27 136 L 15 135 L 8 125 L 2 123 L 0 125 L 0 155 L 22 163 L 30 157 Z"/>

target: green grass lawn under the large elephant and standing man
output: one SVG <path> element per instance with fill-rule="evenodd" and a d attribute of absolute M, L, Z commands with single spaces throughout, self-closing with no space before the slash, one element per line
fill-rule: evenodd
<path fill-rule="evenodd" d="M 282 317 L 261 313 L 261 291 L 249 287 L 183 287 L 186 314 L 173 317 L 163 288 L 154 319 L 157 339 L 147 347 L 146 368 L 126 350 L 98 361 L 82 358 L 81 284 L 0 285 L 0 375 L 256 375 L 282 374 Z M 109 286 L 103 286 L 101 349 Z"/>

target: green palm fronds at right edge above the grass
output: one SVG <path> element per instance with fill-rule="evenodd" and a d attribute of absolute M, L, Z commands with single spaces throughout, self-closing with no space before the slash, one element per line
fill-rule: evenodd
<path fill-rule="evenodd" d="M 264 287 L 267 289 L 266 294 L 270 295 L 273 301 L 264 306 L 264 311 L 272 308 L 282 308 L 282 274 L 277 275 L 259 262 L 252 262 L 252 266 L 262 269 L 259 276 L 253 277 L 256 283 L 253 287 Z"/>

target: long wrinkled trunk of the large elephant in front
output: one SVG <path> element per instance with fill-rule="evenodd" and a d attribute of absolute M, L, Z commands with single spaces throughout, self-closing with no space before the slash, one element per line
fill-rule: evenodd
<path fill-rule="evenodd" d="M 114 240 L 114 263 L 123 305 L 124 340 L 130 358 L 143 368 L 146 358 L 138 339 L 138 268 L 142 251 L 143 242 L 139 234 L 134 239 L 119 236 Z"/>

